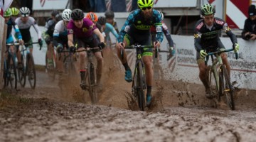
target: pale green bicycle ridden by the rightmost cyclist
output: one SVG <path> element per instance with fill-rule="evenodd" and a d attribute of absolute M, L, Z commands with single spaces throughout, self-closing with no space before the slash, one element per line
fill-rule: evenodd
<path fill-rule="evenodd" d="M 225 65 L 223 65 L 220 53 L 226 53 L 233 50 L 233 48 L 219 49 L 215 52 L 207 53 L 208 56 L 206 56 L 205 59 L 206 65 L 209 56 L 212 60 L 212 65 L 208 65 L 208 84 L 210 85 L 210 87 L 213 87 L 213 82 L 215 81 L 215 93 L 218 94 L 218 102 L 220 102 L 220 97 L 225 95 L 226 104 L 228 104 L 228 107 L 230 107 L 231 110 L 235 110 L 235 102 L 233 98 L 234 89 L 230 82 L 230 75 L 228 75 L 228 70 Z M 215 58 L 213 58 L 213 55 L 215 55 Z M 235 58 L 238 59 L 238 52 L 235 52 Z M 214 80 L 212 80 L 212 77 L 214 77 Z"/>

